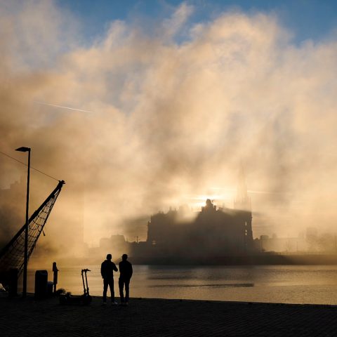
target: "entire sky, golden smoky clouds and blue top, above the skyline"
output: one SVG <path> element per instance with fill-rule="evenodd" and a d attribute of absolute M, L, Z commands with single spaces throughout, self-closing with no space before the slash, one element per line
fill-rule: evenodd
<path fill-rule="evenodd" d="M 232 207 L 241 166 L 254 237 L 336 232 L 336 7 L 0 0 L 0 150 L 30 146 L 66 181 L 51 219 L 83 213 L 86 242 L 146 239 L 150 214 L 206 197 Z M 0 173 L 8 188 L 25 167 Z M 32 180 L 42 200 L 55 185 Z"/>

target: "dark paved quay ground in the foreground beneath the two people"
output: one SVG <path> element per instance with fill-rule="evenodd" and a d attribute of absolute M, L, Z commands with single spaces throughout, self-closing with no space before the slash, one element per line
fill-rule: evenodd
<path fill-rule="evenodd" d="M 337 336 L 337 306 L 131 299 L 128 307 L 0 296 L 0 336 Z"/>

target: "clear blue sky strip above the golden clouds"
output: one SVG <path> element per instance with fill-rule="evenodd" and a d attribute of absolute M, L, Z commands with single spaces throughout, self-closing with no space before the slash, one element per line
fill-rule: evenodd
<path fill-rule="evenodd" d="M 182 1 L 112 1 L 112 0 L 58 0 L 56 4 L 67 9 L 84 24 L 86 39 L 102 34 L 112 20 L 134 20 L 146 18 L 158 20 L 170 14 Z M 247 14 L 256 12 L 277 15 L 278 20 L 291 30 L 297 43 L 312 39 L 326 39 L 336 29 L 336 1 L 319 0 L 222 0 L 222 1 L 185 1 L 193 6 L 190 24 L 213 20 L 225 11 L 242 11 Z"/>

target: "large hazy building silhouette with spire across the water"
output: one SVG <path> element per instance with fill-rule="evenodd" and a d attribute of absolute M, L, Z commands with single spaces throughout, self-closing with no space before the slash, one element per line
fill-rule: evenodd
<path fill-rule="evenodd" d="M 244 256 L 253 251 L 251 201 L 244 180 L 242 171 L 234 209 L 217 208 L 207 199 L 192 220 L 184 207 L 152 215 L 147 240 L 132 245 L 132 256 L 199 259 Z"/>

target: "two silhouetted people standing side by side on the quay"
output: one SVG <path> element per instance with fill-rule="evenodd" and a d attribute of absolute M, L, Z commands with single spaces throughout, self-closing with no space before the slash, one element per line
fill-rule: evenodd
<path fill-rule="evenodd" d="M 117 304 L 114 300 L 114 271 L 118 272 L 116 265 L 112 262 L 112 255 L 107 254 L 107 259 L 103 261 L 100 266 L 100 275 L 103 278 L 103 304 L 107 304 L 107 287 L 110 288 L 111 302 Z M 121 256 L 121 262 L 119 263 L 119 296 L 121 296 L 121 304 L 128 305 L 129 296 L 129 284 L 132 277 L 132 265 L 128 262 L 128 256 L 123 254 Z M 124 298 L 124 286 L 125 286 L 125 298 Z"/>

